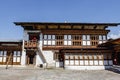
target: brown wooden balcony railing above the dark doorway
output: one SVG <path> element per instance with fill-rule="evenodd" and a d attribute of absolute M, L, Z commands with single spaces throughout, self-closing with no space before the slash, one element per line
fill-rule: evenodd
<path fill-rule="evenodd" d="M 35 40 L 25 41 L 25 49 L 37 49 L 38 42 Z"/>

